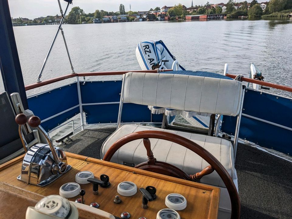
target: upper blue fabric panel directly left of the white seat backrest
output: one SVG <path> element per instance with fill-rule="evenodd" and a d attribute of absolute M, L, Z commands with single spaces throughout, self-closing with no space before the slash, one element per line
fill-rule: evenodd
<path fill-rule="evenodd" d="M 80 90 L 82 103 L 120 102 L 122 81 L 85 82 Z"/>

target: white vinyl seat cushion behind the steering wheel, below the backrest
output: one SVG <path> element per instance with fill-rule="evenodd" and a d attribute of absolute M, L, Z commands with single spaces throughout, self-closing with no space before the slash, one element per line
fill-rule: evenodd
<path fill-rule="evenodd" d="M 234 181 L 236 181 L 235 184 L 237 187 L 237 176 L 234 168 L 233 159 L 234 154 L 232 143 L 223 138 L 173 130 L 165 130 L 151 126 L 126 124 L 118 128 L 103 143 L 103 146 L 101 148 L 101 158 L 104 157 L 106 151 L 112 146 L 112 144 L 121 137 L 133 132 L 143 130 L 158 130 L 170 132 L 185 137 L 199 144 L 201 147 L 205 148 L 212 155 L 214 155 L 214 157 L 217 158 L 219 162 L 221 162 L 224 168 L 228 171 L 231 178 L 234 179 Z M 193 175 L 197 172 L 200 172 L 209 165 L 199 155 L 179 144 L 162 139 L 153 138 L 150 138 L 150 142 L 151 149 L 157 161 L 172 164 L 186 172 L 188 175 Z M 116 153 L 111 158 L 111 162 L 119 163 L 122 165 L 123 162 L 133 163 L 134 165 L 137 165 L 146 161 L 147 154 L 143 144 L 143 139 L 131 141 L 123 145 L 123 147 L 116 151 Z M 201 182 L 214 186 L 225 187 L 223 181 L 221 180 L 216 171 L 207 176 L 204 176 L 201 179 Z"/>

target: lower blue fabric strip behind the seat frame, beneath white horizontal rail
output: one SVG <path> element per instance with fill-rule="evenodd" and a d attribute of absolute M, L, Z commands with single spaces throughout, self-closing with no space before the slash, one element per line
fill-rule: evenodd
<path fill-rule="evenodd" d="M 88 124 L 116 123 L 119 104 L 87 105 L 83 111 Z M 147 106 L 124 103 L 121 122 L 151 122 L 151 112 Z M 162 122 L 162 115 L 152 115 L 152 122 Z"/>

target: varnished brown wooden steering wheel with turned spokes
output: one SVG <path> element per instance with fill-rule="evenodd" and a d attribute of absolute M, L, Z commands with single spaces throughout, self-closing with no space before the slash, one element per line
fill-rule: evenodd
<path fill-rule="evenodd" d="M 224 168 L 224 166 L 206 149 L 202 148 L 200 145 L 196 144 L 189 139 L 186 139 L 182 136 L 172 134 L 169 132 L 163 131 L 138 131 L 131 134 L 127 134 L 124 137 L 121 137 L 117 140 L 113 145 L 108 149 L 106 154 L 103 157 L 104 161 L 110 161 L 114 153 L 121 148 L 124 144 L 129 143 L 130 141 L 134 141 L 137 139 L 143 138 L 144 146 L 147 150 L 148 162 L 144 162 L 135 166 L 138 169 L 144 169 L 151 172 L 156 172 L 160 174 L 164 174 L 167 176 L 174 176 L 181 179 L 198 181 L 202 176 L 210 174 L 214 170 L 221 177 L 224 182 L 226 189 L 228 190 L 229 197 L 231 200 L 231 219 L 239 219 L 240 215 L 240 201 L 237 189 L 231 179 L 229 173 Z M 166 141 L 172 141 L 176 144 L 180 144 L 185 148 L 195 152 L 201 158 L 203 158 L 206 162 L 210 164 L 210 166 L 206 167 L 203 171 L 196 173 L 194 175 L 188 176 L 185 172 L 180 170 L 179 168 L 170 165 L 165 162 L 158 162 L 156 158 L 154 158 L 153 153 L 151 151 L 151 145 L 149 138 L 163 139 Z"/>

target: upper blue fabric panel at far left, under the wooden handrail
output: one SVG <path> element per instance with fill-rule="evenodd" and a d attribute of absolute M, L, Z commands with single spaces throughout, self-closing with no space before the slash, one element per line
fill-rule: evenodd
<path fill-rule="evenodd" d="M 46 119 L 79 104 L 77 84 L 56 88 L 30 97 L 27 101 L 29 109 L 36 116 L 39 116 L 41 120 Z"/>

